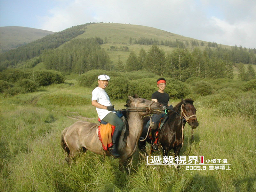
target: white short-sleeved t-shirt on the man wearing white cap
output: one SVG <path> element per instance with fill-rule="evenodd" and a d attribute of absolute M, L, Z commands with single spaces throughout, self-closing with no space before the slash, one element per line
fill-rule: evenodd
<path fill-rule="evenodd" d="M 95 89 L 93 89 L 92 91 L 92 101 L 96 100 L 98 103 L 100 103 L 101 105 L 104 106 L 109 106 L 112 105 L 108 94 L 106 93 L 106 91 L 100 87 L 96 87 Z M 101 108 L 97 108 L 96 107 L 96 111 L 98 113 L 98 116 L 100 118 L 100 120 L 102 120 L 106 115 L 108 115 L 108 113 L 113 112 L 115 113 L 115 111 L 108 111 L 107 109 L 101 109 Z"/>

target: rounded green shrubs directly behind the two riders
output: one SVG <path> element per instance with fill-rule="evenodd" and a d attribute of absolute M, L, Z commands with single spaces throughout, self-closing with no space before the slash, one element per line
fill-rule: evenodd
<path fill-rule="evenodd" d="M 79 84 L 84 87 L 95 88 L 98 86 L 97 77 L 101 74 L 110 76 L 107 92 L 112 100 L 125 100 L 128 95 L 133 96 L 134 94 L 138 94 L 139 97 L 150 100 L 152 93 L 157 91 L 156 79 L 158 79 L 159 76 L 147 71 L 121 73 L 91 70 L 79 77 Z M 171 98 L 184 98 L 190 93 L 185 83 L 172 78 L 166 78 L 166 81 L 167 86 L 165 92 L 167 92 Z"/>

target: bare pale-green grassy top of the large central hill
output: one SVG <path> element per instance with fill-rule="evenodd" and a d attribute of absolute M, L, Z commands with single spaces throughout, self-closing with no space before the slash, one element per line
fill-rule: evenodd
<path fill-rule="evenodd" d="M 141 37 L 156 39 L 159 41 L 159 43 L 161 42 L 161 40 L 163 40 L 164 42 L 165 40 L 176 41 L 177 39 L 182 41 L 189 51 L 192 51 L 193 49 L 191 41 L 197 41 L 199 45 L 202 42 L 202 40 L 177 35 L 157 28 L 119 23 L 96 23 L 86 26 L 85 32 L 82 35 L 77 36 L 76 38 L 90 38 L 95 36 L 99 36 L 101 39 L 103 39 L 104 44 L 102 44 L 101 47 L 104 48 L 105 51 L 107 51 L 110 60 L 112 60 L 114 63 L 117 62 L 118 55 L 120 56 L 120 60 L 126 63 L 130 51 L 134 51 L 138 56 L 141 48 L 143 48 L 145 51 L 148 51 L 151 48 L 151 45 L 129 44 L 129 40 L 131 37 L 133 42 L 135 38 L 138 40 Z M 105 42 L 105 39 L 107 39 L 107 42 Z M 186 42 L 188 42 L 188 45 L 186 44 Z M 208 44 L 208 42 L 206 41 L 203 42 L 204 46 L 198 46 L 200 47 L 200 49 L 204 49 Z M 116 46 L 117 48 L 120 48 L 122 46 L 128 46 L 129 51 L 120 51 L 119 49 L 110 50 L 110 46 Z M 218 46 L 220 46 L 220 44 L 218 44 Z M 223 48 L 231 47 L 228 45 L 221 46 Z M 164 45 L 159 45 L 159 47 L 163 49 L 166 54 L 174 49 L 172 47 Z"/>

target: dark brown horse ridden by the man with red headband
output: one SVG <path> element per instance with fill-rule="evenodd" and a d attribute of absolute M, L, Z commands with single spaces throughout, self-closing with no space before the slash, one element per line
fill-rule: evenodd
<path fill-rule="evenodd" d="M 167 156 L 168 152 L 173 149 L 175 156 L 180 154 L 180 148 L 183 145 L 183 128 L 185 124 L 196 129 L 198 121 L 196 118 L 196 108 L 193 100 L 181 99 L 173 111 L 168 112 L 168 118 L 158 133 L 158 140 L 163 148 L 163 156 Z M 143 142 L 139 141 L 139 148 L 143 148 Z"/>

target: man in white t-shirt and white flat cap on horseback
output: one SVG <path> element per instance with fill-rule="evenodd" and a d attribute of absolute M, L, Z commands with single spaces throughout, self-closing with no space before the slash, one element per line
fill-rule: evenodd
<path fill-rule="evenodd" d="M 110 77 L 107 75 L 98 76 L 99 85 L 92 91 L 92 105 L 96 107 L 100 120 L 116 127 L 112 136 L 113 146 L 110 148 L 110 153 L 113 156 L 120 156 L 117 151 L 117 145 L 124 123 L 118 116 L 116 116 L 114 106 L 112 106 L 108 94 L 105 91 L 109 80 Z"/>

